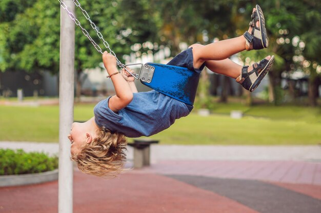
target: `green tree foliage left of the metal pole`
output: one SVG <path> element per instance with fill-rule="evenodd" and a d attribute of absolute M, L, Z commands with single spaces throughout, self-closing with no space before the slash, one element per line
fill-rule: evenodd
<path fill-rule="evenodd" d="M 0 60 L 3 60 L 0 70 L 34 72 L 49 69 L 56 73 L 59 65 L 59 7 L 55 1 L 14 2 L 17 4 L 10 1 L 1 4 L 5 13 L 16 13 L 0 23 L 0 31 L 4 32 L 0 36 Z"/>

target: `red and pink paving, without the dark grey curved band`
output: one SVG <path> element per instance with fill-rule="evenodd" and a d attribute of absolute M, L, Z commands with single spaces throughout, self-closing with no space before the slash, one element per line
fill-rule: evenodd
<path fill-rule="evenodd" d="M 321 200 L 320 162 L 160 161 L 111 180 L 75 171 L 74 212 L 257 212 L 216 191 L 203 190 L 163 174 L 272 181 L 292 192 Z M 0 213 L 57 212 L 57 196 L 57 181 L 0 187 Z"/>

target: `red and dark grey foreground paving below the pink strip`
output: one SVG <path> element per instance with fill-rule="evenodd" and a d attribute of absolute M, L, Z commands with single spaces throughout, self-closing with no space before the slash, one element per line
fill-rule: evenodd
<path fill-rule="evenodd" d="M 319 213 L 321 186 L 137 173 L 111 180 L 74 172 L 73 212 Z M 0 187 L 0 212 L 57 212 L 57 181 Z"/>

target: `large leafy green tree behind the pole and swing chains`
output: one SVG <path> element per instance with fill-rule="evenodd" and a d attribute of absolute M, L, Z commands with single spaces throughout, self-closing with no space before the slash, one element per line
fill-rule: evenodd
<path fill-rule="evenodd" d="M 106 1 L 79 1 L 83 8 L 90 14 L 91 20 L 99 27 L 99 31 L 108 41 L 111 49 L 119 57 L 130 53 L 133 42 L 150 37 L 148 32 L 156 33 L 156 30 L 148 29 L 152 19 L 139 19 L 139 23 L 131 21 L 131 30 L 126 26 L 126 20 L 139 18 L 136 7 L 123 9 L 123 1 L 111 1 L 106 6 Z M 132 3 L 131 3 L 132 4 Z M 142 2 L 136 2 L 143 6 Z M 105 7 L 102 7 L 104 5 Z M 140 8 L 140 7 L 137 7 Z M 145 8 L 147 10 L 148 8 Z M 59 17 L 60 7 L 58 1 L 2 1 L 0 4 L 0 70 L 50 70 L 52 74 L 59 69 Z M 66 12 L 66 11 L 63 11 Z M 135 14 L 136 12 L 136 14 Z M 142 12 L 142 11 L 141 11 Z M 144 12 L 142 12 L 143 14 Z M 128 15 L 128 16 L 126 16 Z M 133 16 L 130 16 L 133 15 Z M 90 23 L 83 16 L 81 10 L 76 7 L 76 17 L 81 25 L 87 29 L 91 37 L 105 50 L 103 41 L 91 28 Z M 135 29 L 135 23 L 145 26 L 144 29 Z M 124 29 L 129 29 L 124 32 Z M 136 35 L 131 36 L 131 34 Z M 99 54 L 82 31 L 75 31 L 75 72 L 77 76 L 77 97 L 81 91 L 81 73 L 85 68 L 97 67 L 101 63 Z"/>

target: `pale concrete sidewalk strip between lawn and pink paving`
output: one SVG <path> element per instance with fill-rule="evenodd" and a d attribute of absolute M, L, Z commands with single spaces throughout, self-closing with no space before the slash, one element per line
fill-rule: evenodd
<path fill-rule="evenodd" d="M 57 143 L 0 141 L 0 148 L 58 153 Z M 128 147 L 128 159 L 133 149 Z M 162 160 L 295 160 L 321 162 L 321 146 L 152 145 L 151 162 Z"/>

